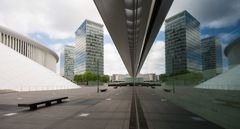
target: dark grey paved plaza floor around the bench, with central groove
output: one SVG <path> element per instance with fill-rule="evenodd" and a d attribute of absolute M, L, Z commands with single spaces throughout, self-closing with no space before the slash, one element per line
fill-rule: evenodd
<path fill-rule="evenodd" d="M 158 88 L 96 87 L 0 94 L 0 129 L 221 129 L 171 103 Z M 62 104 L 29 111 L 18 103 L 68 96 Z"/>

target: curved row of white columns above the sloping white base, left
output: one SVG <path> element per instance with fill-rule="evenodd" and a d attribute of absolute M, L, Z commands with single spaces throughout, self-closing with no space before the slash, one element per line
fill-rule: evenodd
<path fill-rule="evenodd" d="M 2 26 L 0 26 L 0 42 L 38 64 L 56 72 L 58 55 L 42 44 Z"/>

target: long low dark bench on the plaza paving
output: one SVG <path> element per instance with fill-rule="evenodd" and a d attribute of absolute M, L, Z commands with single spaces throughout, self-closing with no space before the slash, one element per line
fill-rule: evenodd
<path fill-rule="evenodd" d="M 68 99 L 68 97 L 60 97 L 60 98 L 54 98 L 54 99 L 48 99 L 48 100 L 41 100 L 38 102 L 32 102 L 32 103 L 22 103 L 18 104 L 18 107 L 30 107 L 30 110 L 36 110 L 37 105 L 45 104 L 46 106 L 51 106 L 52 102 L 62 103 L 62 100 Z"/>

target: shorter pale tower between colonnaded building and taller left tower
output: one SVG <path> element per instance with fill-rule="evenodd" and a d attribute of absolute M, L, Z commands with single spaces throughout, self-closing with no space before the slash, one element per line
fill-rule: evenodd
<path fill-rule="evenodd" d="M 68 80 L 74 77 L 74 46 L 65 45 L 60 54 L 60 74 Z"/>

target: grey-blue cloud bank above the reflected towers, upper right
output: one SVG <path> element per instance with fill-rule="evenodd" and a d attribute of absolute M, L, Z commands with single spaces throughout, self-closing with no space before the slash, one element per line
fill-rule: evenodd
<path fill-rule="evenodd" d="M 221 28 L 240 20 L 239 9 L 239 0 L 174 0 L 167 18 L 187 10 L 202 27 Z"/>

